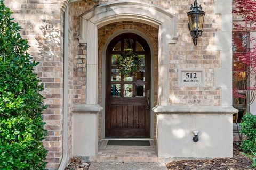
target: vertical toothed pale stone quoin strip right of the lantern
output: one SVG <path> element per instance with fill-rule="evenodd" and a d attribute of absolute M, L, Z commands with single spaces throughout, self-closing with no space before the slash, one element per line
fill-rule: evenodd
<path fill-rule="evenodd" d="M 221 105 L 232 106 L 232 0 L 216 0 L 215 13 L 221 14 L 221 31 L 215 33 L 221 68 L 215 69 L 215 86 L 221 87 Z"/>

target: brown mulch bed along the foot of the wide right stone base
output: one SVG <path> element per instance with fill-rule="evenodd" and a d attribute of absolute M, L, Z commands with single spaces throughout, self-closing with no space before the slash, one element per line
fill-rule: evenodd
<path fill-rule="evenodd" d="M 252 164 L 251 160 L 240 152 L 242 150 L 234 143 L 233 144 L 233 158 L 218 158 L 211 160 L 177 160 L 168 162 L 166 164 L 168 170 L 194 170 L 194 169 L 205 169 L 205 170 L 226 170 L 226 169 L 256 169 L 249 168 Z"/>

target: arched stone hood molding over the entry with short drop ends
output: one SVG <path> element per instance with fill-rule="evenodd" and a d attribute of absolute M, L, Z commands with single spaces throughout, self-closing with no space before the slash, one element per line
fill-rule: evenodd
<path fill-rule="evenodd" d="M 169 39 L 169 43 L 176 43 L 176 17 L 173 14 L 155 5 L 132 1 L 102 4 L 82 14 L 78 39 L 80 43 L 87 43 L 88 22 L 100 28 L 106 24 L 119 21 L 136 21 L 149 24 L 156 28 L 163 23 L 168 24 L 170 32 L 167 38 Z"/>

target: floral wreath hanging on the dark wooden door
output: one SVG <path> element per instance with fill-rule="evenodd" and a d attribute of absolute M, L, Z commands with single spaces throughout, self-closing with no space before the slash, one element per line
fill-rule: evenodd
<path fill-rule="evenodd" d="M 140 65 L 140 60 L 138 55 L 132 51 L 123 52 L 117 57 L 116 64 L 122 75 L 135 75 Z"/>

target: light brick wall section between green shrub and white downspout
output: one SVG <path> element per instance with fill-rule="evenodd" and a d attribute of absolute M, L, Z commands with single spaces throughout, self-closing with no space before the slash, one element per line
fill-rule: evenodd
<path fill-rule="evenodd" d="M 5 0 L 13 11 L 12 17 L 21 27 L 21 35 L 28 39 L 29 53 L 41 62 L 35 72 L 44 82 L 46 97 L 44 111 L 47 138 L 43 141 L 49 151 L 47 168 L 57 169 L 62 158 L 63 104 L 63 1 Z"/>

